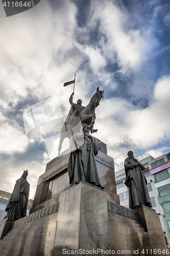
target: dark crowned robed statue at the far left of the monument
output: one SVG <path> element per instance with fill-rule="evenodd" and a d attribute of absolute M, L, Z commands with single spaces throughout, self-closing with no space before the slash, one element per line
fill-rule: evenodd
<path fill-rule="evenodd" d="M 7 211 L 5 218 L 19 220 L 26 217 L 30 192 L 30 184 L 27 181 L 27 176 L 28 170 L 23 170 L 20 179 L 16 181 L 12 195 L 5 209 Z"/>

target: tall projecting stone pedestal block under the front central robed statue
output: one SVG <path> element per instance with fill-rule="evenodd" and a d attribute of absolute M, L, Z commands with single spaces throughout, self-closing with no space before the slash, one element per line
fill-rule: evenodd
<path fill-rule="evenodd" d="M 98 248 L 110 248 L 107 194 L 96 186 L 80 182 L 60 196 L 54 254 Z"/>

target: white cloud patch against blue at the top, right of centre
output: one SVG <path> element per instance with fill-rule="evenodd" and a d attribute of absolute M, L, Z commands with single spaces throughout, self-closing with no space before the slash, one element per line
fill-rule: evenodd
<path fill-rule="evenodd" d="M 133 28 L 134 24 L 127 10 L 117 7 L 110 1 L 93 2 L 89 27 L 99 20 L 100 32 L 103 35 L 99 44 L 104 56 L 114 61 L 116 54 L 122 72 L 127 71 L 127 68 L 136 69 L 140 66 L 144 54 L 151 45 L 147 41 L 148 38 L 145 38 L 145 34 Z"/>

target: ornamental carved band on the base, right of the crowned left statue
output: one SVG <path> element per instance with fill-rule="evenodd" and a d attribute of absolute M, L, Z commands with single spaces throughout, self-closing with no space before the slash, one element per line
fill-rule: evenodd
<path fill-rule="evenodd" d="M 15 221 L 12 224 L 12 228 L 11 229 L 14 229 L 14 228 L 17 228 L 17 227 L 21 227 L 23 225 L 26 225 L 26 224 L 28 224 L 30 222 L 39 220 L 39 219 L 41 219 L 43 217 L 46 217 L 48 215 L 55 214 L 55 212 L 58 212 L 58 209 L 59 209 L 59 202 L 57 204 L 54 204 L 54 205 L 48 206 L 46 208 L 43 208 L 41 210 L 38 210 L 36 212 L 33 212 L 33 214 L 30 214 L 30 215 L 28 215 L 26 217 L 23 217 L 20 220 Z"/>

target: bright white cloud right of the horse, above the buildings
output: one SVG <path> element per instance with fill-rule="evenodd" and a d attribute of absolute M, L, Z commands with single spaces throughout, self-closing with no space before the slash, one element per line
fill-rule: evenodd
<path fill-rule="evenodd" d="M 112 98 L 101 102 L 98 107 L 101 108 L 100 114 L 96 114 L 95 121 L 95 129 L 99 129 L 96 137 L 107 144 L 108 152 L 114 158 L 117 157 L 116 164 L 122 165 L 128 150 L 152 153 L 150 148 L 170 139 L 169 84 L 170 77 L 160 79 L 155 85 L 153 101 L 143 110 L 136 110 L 123 99 Z"/>

